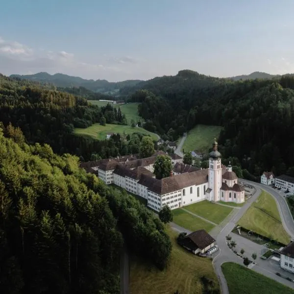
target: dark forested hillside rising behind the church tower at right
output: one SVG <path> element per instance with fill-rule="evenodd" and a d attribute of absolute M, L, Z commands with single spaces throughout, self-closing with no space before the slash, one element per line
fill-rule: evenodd
<path fill-rule="evenodd" d="M 141 87 L 141 89 L 140 89 Z M 233 81 L 180 71 L 124 88 L 142 102 L 145 127 L 177 139 L 196 124 L 221 125 L 225 158 L 255 176 L 272 170 L 294 176 L 294 77 Z"/>

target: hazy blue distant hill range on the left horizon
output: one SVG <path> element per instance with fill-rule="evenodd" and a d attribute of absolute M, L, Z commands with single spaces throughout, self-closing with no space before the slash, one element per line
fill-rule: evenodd
<path fill-rule="evenodd" d="M 71 76 L 63 73 L 35 73 L 35 74 L 12 74 L 10 77 L 17 77 L 20 79 L 28 79 L 31 81 L 41 82 L 43 84 L 50 83 L 56 87 L 84 87 L 93 92 L 102 94 L 115 95 L 118 91 L 126 86 L 134 86 L 140 80 L 125 80 L 121 82 L 108 82 L 107 80 L 87 80 L 77 76 Z"/>

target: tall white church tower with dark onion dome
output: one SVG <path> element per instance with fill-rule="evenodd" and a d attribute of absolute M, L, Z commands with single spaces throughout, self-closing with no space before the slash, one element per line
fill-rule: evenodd
<path fill-rule="evenodd" d="M 218 143 L 215 139 L 212 151 L 209 153 L 208 186 L 212 190 L 208 196 L 209 201 L 220 200 L 221 174 L 221 153 L 218 151 Z"/>

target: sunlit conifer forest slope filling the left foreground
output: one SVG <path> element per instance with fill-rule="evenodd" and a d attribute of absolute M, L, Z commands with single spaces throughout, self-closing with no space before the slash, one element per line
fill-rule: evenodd
<path fill-rule="evenodd" d="M 138 200 L 0 126 L 0 293 L 117 294 L 123 243 L 166 267 L 171 241 Z"/>

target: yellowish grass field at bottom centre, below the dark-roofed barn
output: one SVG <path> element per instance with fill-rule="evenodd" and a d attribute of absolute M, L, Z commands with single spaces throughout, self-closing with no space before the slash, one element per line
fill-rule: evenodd
<path fill-rule="evenodd" d="M 167 229 L 172 241 L 172 255 L 166 270 L 157 270 L 146 261 L 133 258 L 130 265 L 131 294 L 202 294 L 200 278 L 205 276 L 219 289 L 218 279 L 209 259 L 198 257 L 176 244 L 177 233 Z"/>

